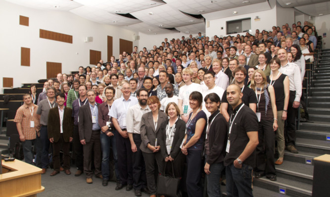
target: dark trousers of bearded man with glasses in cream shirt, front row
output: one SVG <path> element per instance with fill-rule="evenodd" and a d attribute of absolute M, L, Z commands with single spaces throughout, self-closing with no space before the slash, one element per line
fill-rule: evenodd
<path fill-rule="evenodd" d="M 133 134 L 133 140 L 138 150 L 132 153 L 133 181 L 134 181 L 133 188 L 134 190 L 141 191 L 142 188 L 146 188 L 145 165 L 144 165 L 142 151 L 140 149 L 141 135 Z"/>

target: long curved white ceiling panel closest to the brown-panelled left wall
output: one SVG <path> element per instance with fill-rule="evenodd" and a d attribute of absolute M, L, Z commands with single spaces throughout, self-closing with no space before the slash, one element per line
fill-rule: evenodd
<path fill-rule="evenodd" d="M 105 10 L 98 9 L 91 6 L 81 6 L 70 10 L 70 12 L 86 18 L 88 20 L 109 25 L 125 26 L 140 23 L 140 20 L 127 18 L 118 14 L 112 14 Z M 116 21 L 116 22 L 113 22 Z"/>

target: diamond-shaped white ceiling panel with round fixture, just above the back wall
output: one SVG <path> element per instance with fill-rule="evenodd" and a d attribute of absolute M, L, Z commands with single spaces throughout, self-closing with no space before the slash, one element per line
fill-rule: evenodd
<path fill-rule="evenodd" d="M 152 12 L 154 14 L 149 15 L 149 12 Z M 131 14 L 136 18 L 140 19 L 141 21 L 149 24 L 153 24 L 156 26 L 162 24 L 163 28 L 180 27 L 203 22 L 203 19 L 196 19 L 194 17 L 191 17 L 188 14 L 184 14 L 178 9 L 173 8 L 168 4 L 136 11 Z"/>

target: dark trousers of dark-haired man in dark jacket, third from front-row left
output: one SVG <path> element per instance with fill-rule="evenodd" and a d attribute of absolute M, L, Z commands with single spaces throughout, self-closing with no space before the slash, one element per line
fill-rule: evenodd
<path fill-rule="evenodd" d="M 59 140 L 53 143 L 53 161 L 54 161 L 54 170 L 59 172 L 60 164 L 60 150 L 63 151 L 63 168 L 64 170 L 70 169 L 70 142 L 64 142 L 63 134 L 60 134 Z"/>

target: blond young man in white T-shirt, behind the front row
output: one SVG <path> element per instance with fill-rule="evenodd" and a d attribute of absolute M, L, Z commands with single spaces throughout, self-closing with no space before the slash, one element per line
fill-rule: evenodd
<path fill-rule="evenodd" d="M 180 117 L 185 122 L 188 122 L 189 113 L 191 111 L 191 108 L 189 106 L 189 96 L 193 91 L 200 90 L 199 84 L 191 82 L 192 75 L 193 75 L 193 71 L 191 68 L 185 68 L 182 71 L 182 77 L 186 85 L 180 88 L 178 106 L 180 109 Z"/>

